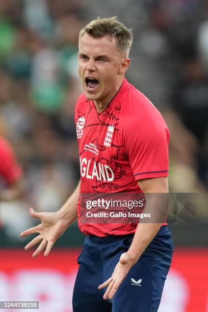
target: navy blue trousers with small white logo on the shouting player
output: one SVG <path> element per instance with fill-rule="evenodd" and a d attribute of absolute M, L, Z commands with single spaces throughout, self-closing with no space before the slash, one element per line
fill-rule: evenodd
<path fill-rule="evenodd" d="M 112 300 L 103 300 L 106 289 L 98 285 L 111 277 L 120 255 L 131 245 L 133 235 L 90 236 L 77 262 L 73 312 L 157 312 L 173 244 L 168 226 L 162 226 L 139 261 L 129 270 Z"/>

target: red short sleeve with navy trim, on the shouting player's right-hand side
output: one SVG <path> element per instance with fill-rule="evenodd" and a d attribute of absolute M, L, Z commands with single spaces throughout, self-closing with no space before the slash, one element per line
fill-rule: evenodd
<path fill-rule="evenodd" d="M 168 175 L 170 134 L 158 111 L 156 116 L 134 117 L 123 128 L 123 145 L 136 180 Z"/>

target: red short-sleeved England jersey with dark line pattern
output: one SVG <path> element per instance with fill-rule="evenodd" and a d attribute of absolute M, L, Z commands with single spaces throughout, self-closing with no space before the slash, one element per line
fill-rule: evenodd
<path fill-rule="evenodd" d="M 168 175 L 168 127 L 149 99 L 126 79 L 101 113 L 82 94 L 75 106 L 75 123 L 82 194 L 142 193 L 139 179 Z M 135 223 L 82 223 L 80 201 L 78 223 L 86 235 L 135 232 Z"/>

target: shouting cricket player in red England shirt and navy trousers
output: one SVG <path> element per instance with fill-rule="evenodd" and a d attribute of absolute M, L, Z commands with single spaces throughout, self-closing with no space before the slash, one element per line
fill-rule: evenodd
<path fill-rule="evenodd" d="M 40 243 L 48 255 L 56 240 L 78 218 L 87 236 L 78 258 L 73 291 L 74 312 L 155 312 L 172 258 L 171 233 L 164 222 L 110 221 L 107 206 L 95 195 L 167 194 L 167 125 L 152 103 L 124 75 L 133 35 L 116 17 L 96 19 L 79 35 L 79 74 L 83 94 L 75 106 L 80 153 L 79 185 L 58 212 L 37 213 L 41 224 L 21 233 L 39 233 L 25 249 Z M 101 222 L 90 209 L 105 211 Z M 160 210 L 153 196 L 145 209 Z M 89 207 L 88 207 L 89 208 Z M 112 212 L 111 212 L 112 214 Z M 147 214 L 146 214 L 147 215 Z M 98 214 L 97 214 L 98 216 Z M 113 215 L 111 215 L 113 218 Z M 97 222 L 96 222 L 97 220 Z"/>

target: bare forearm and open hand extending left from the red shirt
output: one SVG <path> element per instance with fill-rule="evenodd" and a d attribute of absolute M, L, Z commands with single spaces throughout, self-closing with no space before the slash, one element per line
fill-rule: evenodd
<path fill-rule="evenodd" d="M 62 236 L 67 227 L 77 218 L 77 202 L 79 199 L 79 194 L 80 182 L 74 190 L 73 194 L 69 197 L 69 199 L 59 211 L 51 213 L 38 213 L 31 208 L 31 216 L 39 219 L 41 223 L 21 232 L 20 236 L 25 237 L 33 233 L 39 233 L 36 238 L 34 238 L 28 245 L 25 246 L 25 250 L 28 250 L 40 243 L 38 248 L 33 253 L 33 257 L 36 257 L 44 249 L 44 256 L 48 255 L 57 239 Z"/>

